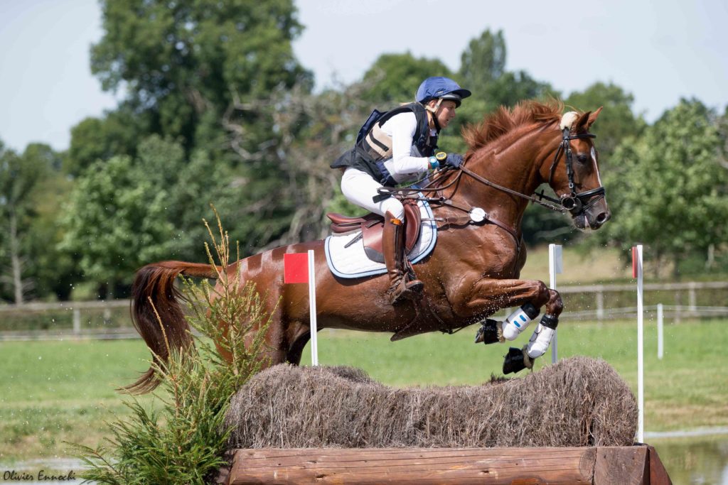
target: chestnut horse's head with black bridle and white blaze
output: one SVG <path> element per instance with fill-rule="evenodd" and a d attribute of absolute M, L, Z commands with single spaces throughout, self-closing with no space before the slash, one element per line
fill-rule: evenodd
<path fill-rule="evenodd" d="M 601 108 L 561 118 L 561 145 L 555 152 L 547 180 L 579 229 L 598 229 L 612 217 L 599 177 L 599 156 L 589 127 Z"/>

